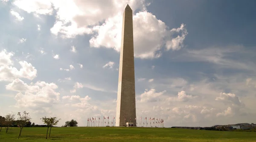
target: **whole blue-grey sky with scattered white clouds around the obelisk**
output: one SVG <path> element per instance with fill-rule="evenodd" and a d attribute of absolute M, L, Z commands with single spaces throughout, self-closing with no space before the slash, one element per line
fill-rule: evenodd
<path fill-rule="evenodd" d="M 137 123 L 256 123 L 253 0 L 0 0 L 0 115 L 112 122 L 127 4 Z"/>

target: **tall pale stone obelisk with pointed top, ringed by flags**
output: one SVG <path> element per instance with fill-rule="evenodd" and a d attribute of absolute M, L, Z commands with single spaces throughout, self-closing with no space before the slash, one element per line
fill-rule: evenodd
<path fill-rule="evenodd" d="M 122 43 L 120 50 L 119 78 L 116 105 L 116 126 L 127 122 L 136 126 L 134 42 L 132 10 L 126 6 L 123 13 Z"/>

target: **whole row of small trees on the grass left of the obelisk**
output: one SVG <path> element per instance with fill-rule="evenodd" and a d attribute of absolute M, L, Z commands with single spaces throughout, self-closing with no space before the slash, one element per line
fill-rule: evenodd
<path fill-rule="evenodd" d="M 17 113 L 17 120 L 15 120 L 15 114 L 6 114 L 6 116 L 0 116 L 0 132 L 2 131 L 2 128 L 6 128 L 5 132 L 7 133 L 10 128 L 12 127 L 18 127 L 20 128 L 20 133 L 18 136 L 18 139 L 20 138 L 21 132 L 24 127 L 47 127 L 47 133 L 46 133 L 46 139 L 48 136 L 49 131 L 49 137 L 51 135 L 52 127 L 55 127 L 55 125 L 58 124 L 59 120 L 57 117 L 42 117 L 41 120 L 45 125 L 35 125 L 35 123 L 31 123 L 31 117 L 29 116 L 29 113 L 26 111 L 23 111 L 23 113 L 18 112 Z M 61 127 L 77 127 L 76 120 L 66 121 L 65 125 L 62 125 Z M 50 130 L 49 130 L 50 128 Z"/>

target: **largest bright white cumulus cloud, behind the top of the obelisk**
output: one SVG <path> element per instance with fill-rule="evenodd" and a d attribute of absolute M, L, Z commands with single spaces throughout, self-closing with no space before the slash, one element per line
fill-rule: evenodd
<path fill-rule="evenodd" d="M 74 38 L 77 35 L 93 34 L 91 47 L 120 50 L 122 13 L 127 4 L 125 1 L 116 3 L 115 0 L 108 0 L 98 3 L 91 0 L 35 0 L 27 4 L 26 0 L 16 0 L 14 4 L 34 14 L 52 14 L 55 9 L 56 21 L 50 30 L 55 35 Z M 147 1 L 130 0 L 128 4 L 134 11 L 135 57 L 159 58 L 162 47 L 166 47 L 166 50 L 180 50 L 184 46 L 183 41 L 188 34 L 184 24 L 169 30 L 163 21 L 147 11 L 146 6 L 150 4 Z"/>

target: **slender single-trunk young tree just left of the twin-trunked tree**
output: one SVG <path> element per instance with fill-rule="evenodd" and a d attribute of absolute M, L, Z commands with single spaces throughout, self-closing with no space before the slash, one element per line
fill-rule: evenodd
<path fill-rule="evenodd" d="M 16 120 L 18 127 L 20 127 L 20 134 L 22 129 L 30 122 L 31 118 L 29 116 L 29 113 L 24 111 L 22 115 L 20 115 L 20 112 L 18 112 L 18 119 Z M 18 139 L 20 138 L 20 134 Z"/>

